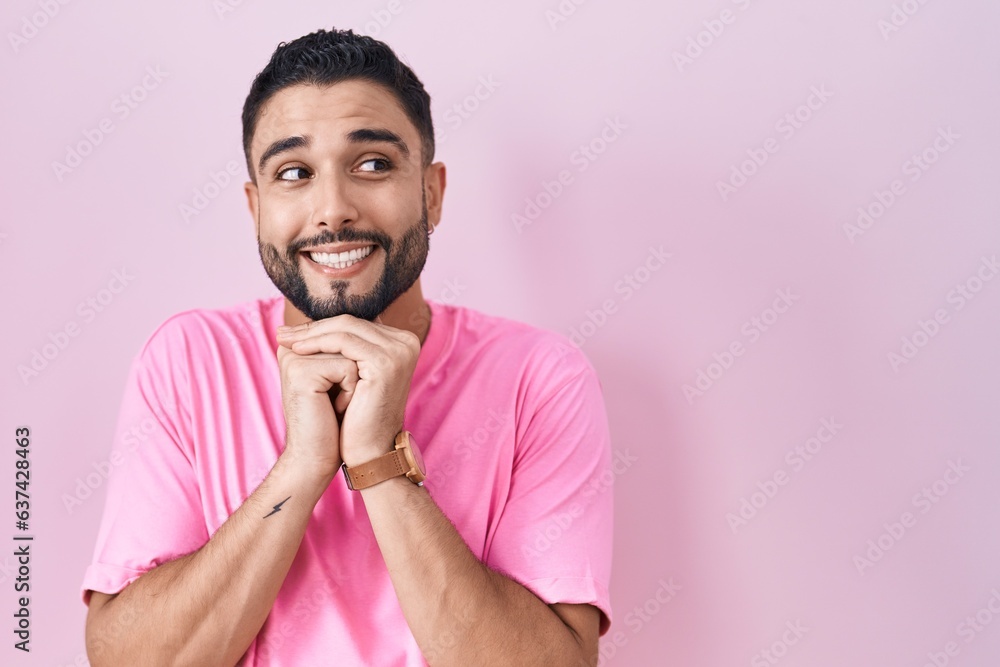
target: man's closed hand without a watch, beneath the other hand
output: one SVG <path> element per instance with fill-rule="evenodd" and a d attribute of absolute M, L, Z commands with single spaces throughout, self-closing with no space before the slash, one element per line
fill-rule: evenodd
<path fill-rule="evenodd" d="M 342 354 L 301 355 L 282 345 L 277 354 L 285 452 L 329 483 L 341 464 L 338 415 L 357 385 L 357 364 Z"/>

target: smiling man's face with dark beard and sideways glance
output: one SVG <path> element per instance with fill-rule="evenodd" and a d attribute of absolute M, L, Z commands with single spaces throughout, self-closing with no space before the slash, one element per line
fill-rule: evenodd
<path fill-rule="evenodd" d="M 420 277 L 429 245 L 420 138 L 386 89 L 284 88 L 261 109 L 250 157 L 261 261 L 306 317 L 373 320 Z"/>

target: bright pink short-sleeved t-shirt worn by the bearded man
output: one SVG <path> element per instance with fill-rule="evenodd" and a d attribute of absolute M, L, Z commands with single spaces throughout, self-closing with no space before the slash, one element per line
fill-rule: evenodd
<path fill-rule="evenodd" d="M 424 486 L 476 557 L 546 603 L 597 606 L 605 634 L 614 475 L 593 367 L 560 334 L 427 302 L 431 328 L 404 418 Z M 118 593 L 203 546 L 274 465 L 285 434 L 283 317 L 280 295 L 186 311 L 136 355 L 84 603 L 89 590 Z M 427 664 L 343 472 L 240 664 L 331 662 Z"/>

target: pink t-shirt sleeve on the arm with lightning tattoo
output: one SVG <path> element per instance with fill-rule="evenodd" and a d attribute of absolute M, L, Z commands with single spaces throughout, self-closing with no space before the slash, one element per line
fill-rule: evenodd
<path fill-rule="evenodd" d="M 147 340 L 129 369 L 118 413 L 97 545 L 81 586 L 119 593 L 209 538 L 193 465 L 186 341 L 177 320 Z"/>

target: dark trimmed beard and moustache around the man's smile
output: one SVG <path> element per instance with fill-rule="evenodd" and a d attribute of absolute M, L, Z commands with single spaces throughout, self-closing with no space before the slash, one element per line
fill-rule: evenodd
<path fill-rule="evenodd" d="M 334 234 L 324 230 L 322 234 L 290 244 L 284 254 L 271 243 L 262 243 L 257 234 L 257 247 L 264 270 L 275 287 L 285 295 L 293 306 L 310 320 L 324 320 L 337 315 L 353 315 L 363 320 L 373 321 L 417 281 L 430 250 L 427 234 L 427 195 L 424 193 L 423 211 L 420 220 L 410 226 L 398 239 L 378 230 L 357 230 L 344 227 Z M 302 276 L 302 248 L 327 243 L 368 242 L 382 248 L 385 263 L 382 275 L 367 294 L 348 294 L 350 280 L 330 281 L 330 294 L 314 296 L 306 286 Z M 374 251 L 373 251 L 374 252 Z"/>

